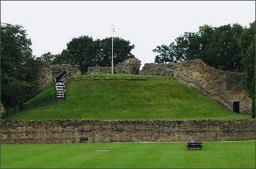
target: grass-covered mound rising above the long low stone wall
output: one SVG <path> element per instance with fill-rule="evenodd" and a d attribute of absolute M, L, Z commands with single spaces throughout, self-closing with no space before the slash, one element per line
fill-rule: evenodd
<path fill-rule="evenodd" d="M 112 78 L 112 80 L 99 80 Z M 137 80 L 123 80 L 137 78 Z M 138 80 L 146 79 L 146 80 Z M 51 85 L 36 96 L 54 93 Z M 30 101 L 29 101 L 30 102 Z M 242 119 L 174 78 L 102 74 L 66 84 L 66 100 L 17 113 L 9 119 Z"/>

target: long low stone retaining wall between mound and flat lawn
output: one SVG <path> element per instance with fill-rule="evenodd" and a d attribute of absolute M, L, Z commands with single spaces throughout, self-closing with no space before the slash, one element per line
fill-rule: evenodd
<path fill-rule="evenodd" d="M 5 121 L 2 144 L 255 139 L 255 120 Z"/>

